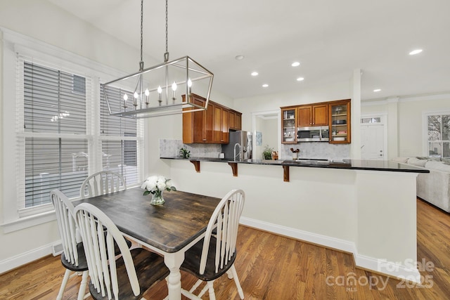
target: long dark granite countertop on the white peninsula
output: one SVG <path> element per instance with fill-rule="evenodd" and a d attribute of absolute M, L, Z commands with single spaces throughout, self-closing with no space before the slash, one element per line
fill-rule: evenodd
<path fill-rule="evenodd" d="M 430 173 L 429 170 L 410 166 L 408 164 L 399 164 L 390 160 L 368 160 L 368 159 L 298 159 L 298 160 L 269 160 L 269 159 L 244 159 L 234 161 L 233 159 L 214 158 L 214 157 L 160 157 L 161 159 L 177 159 L 197 162 L 228 162 L 237 164 L 271 164 L 289 167 L 312 167 L 312 168 L 328 168 L 328 169 L 356 169 L 371 171 L 397 171 L 412 173 Z"/>

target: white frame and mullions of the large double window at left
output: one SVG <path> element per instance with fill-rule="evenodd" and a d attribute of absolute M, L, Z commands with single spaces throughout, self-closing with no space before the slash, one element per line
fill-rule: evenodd
<path fill-rule="evenodd" d="M 101 143 L 103 140 L 120 140 L 117 136 L 101 136 L 100 133 L 100 83 L 110 81 L 114 78 L 124 76 L 123 72 L 117 71 L 111 67 L 101 65 L 88 58 L 77 56 L 73 53 L 63 49 L 51 46 L 42 41 L 37 41 L 23 34 L 18 34 L 4 27 L 0 27 L 0 34 L 3 34 L 3 40 L 0 41 L 0 53 L 3 53 L 1 63 L 3 64 L 3 73 L 1 76 L 4 79 L 4 91 L 2 94 L 2 119 L 3 119 L 3 149 L 2 149 L 2 163 L 3 163 L 3 219 L 0 226 L 4 233 L 13 232 L 23 228 L 36 226 L 41 223 L 46 223 L 56 219 L 53 205 L 43 204 L 37 207 L 20 210 L 18 208 L 18 201 L 25 200 L 25 195 L 19 195 L 18 183 L 25 179 L 25 162 L 23 159 L 16 159 L 15 150 L 18 147 L 19 138 L 29 136 L 30 133 L 25 131 L 16 131 L 16 119 L 23 120 L 23 93 L 17 89 L 18 80 L 18 58 L 19 56 L 31 58 L 32 63 L 37 63 L 45 67 L 51 67 L 64 72 L 81 75 L 83 77 L 91 78 L 91 100 L 86 99 L 86 134 L 76 135 L 73 138 L 88 139 L 89 151 L 89 174 L 96 171 L 101 171 Z M 23 71 L 22 71 L 23 72 Z M 23 78 L 21 79 L 23 81 Z M 23 86 L 23 82 L 22 82 Z M 23 88 L 22 88 L 23 89 Z M 86 98 L 88 96 L 86 95 Z M 13 99 L 7 101 L 6 99 Z M 16 107 L 16 105 L 21 105 Z M 137 145 L 137 168 L 138 168 L 138 183 L 143 180 L 143 155 L 140 152 L 143 150 L 143 122 L 138 120 L 138 129 L 136 133 Z M 6 126 L 8 124 L 8 126 Z M 14 125 L 14 126 L 12 126 Z M 44 133 L 46 134 L 46 133 Z M 59 133 L 65 136 L 63 133 Z M 33 133 L 35 136 L 36 133 Z M 53 135 L 54 137 L 54 135 Z M 124 139 L 131 139 L 130 137 L 122 137 Z M 23 145 L 25 147 L 25 144 Z M 25 153 L 25 150 L 24 150 Z M 100 161 L 100 163 L 98 163 Z M 18 167 L 16 171 L 16 164 L 23 163 L 22 167 Z M 134 185 L 127 185 L 132 187 Z"/>

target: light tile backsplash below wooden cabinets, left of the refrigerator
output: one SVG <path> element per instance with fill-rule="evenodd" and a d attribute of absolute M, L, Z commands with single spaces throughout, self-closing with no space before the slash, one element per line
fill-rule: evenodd
<path fill-rule="evenodd" d="M 191 151 L 191 157 L 219 157 L 220 144 L 184 144 L 181 140 L 160 139 L 160 157 L 178 157 L 180 149 Z"/>

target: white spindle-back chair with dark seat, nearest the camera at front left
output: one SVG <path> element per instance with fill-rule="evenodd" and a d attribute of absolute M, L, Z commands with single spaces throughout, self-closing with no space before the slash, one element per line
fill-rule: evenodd
<path fill-rule="evenodd" d="M 141 299 L 144 292 L 169 275 L 164 258 L 143 248 L 129 249 L 119 229 L 92 204 L 75 207 L 89 268 L 94 299 Z M 122 254 L 117 260 L 114 244 Z"/>

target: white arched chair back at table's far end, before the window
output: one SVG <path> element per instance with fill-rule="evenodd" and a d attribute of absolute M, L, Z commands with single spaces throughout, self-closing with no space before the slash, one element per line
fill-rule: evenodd
<path fill-rule="evenodd" d="M 127 190 L 122 175 L 113 171 L 100 171 L 86 178 L 79 188 L 81 199 Z"/>

